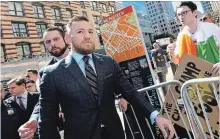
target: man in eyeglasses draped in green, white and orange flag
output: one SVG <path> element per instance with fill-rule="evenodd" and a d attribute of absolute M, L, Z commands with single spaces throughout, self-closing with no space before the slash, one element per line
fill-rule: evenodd
<path fill-rule="evenodd" d="M 215 64 L 212 72 L 219 74 L 220 28 L 213 23 L 197 21 L 197 6 L 191 1 L 180 4 L 177 16 L 183 29 L 176 44 L 167 46 L 171 60 L 179 64 L 182 55 L 187 53 Z"/>

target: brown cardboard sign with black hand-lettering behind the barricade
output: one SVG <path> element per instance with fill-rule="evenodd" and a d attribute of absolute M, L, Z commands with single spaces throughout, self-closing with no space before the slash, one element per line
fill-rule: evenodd
<path fill-rule="evenodd" d="M 199 59 L 195 56 L 184 54 L 179 64 L 179 67 L 176 71 L 174 79 L 179 80 L 180 82 L 184 83 L 190 79 L 215 76 L 215 75 L 212 75 L 211 73 L 212 67 L 213 67 L 212 63 Z M 201 95 L 202 101 L 205 105 L 206 113 L 209 118 L 209 122 L 212 128 L 213 135 L 215 139 L 218 139 L 219 138 L 219 132 L 218 132 L 219 130 L 219 108 L 218 108 L 214 93 L 209 83 L 199 84 L 198 89 L 199 89 L 199 93 Z M 202 112 L 201 104 L 198 100 L 198 96 L 196 95 L 196 91 L 197 91 L 196 87 L 190 86 L 188 90 L 189 90 L 188 92 L 189 92 L 190 99 L 192 103 L 194 104 L 195 111 L 197 115 L 199 116 L 199 120 L 202 123 L 203 129 L 206 132 L 207 137 L 210 138 L 209 130 L 205 122 L 205 117 Z M 165 99 L 164 106 L 167 108 L 167 111 L 169 112 L 169 115 L 172 121 L 178 126 L 185 128 L 180 118 L 180 114 L 177 111 L 177 108 L 175 106 L 171 93 L 173 93 L 175 100 L 180 99 L 181 97 L 180 87 L 176 85 L 172 85 L 170 87 L 169 93 L 167 94 L 166 99 Z M 185 119 L 185 122 L 187 123 L 187 126 L 189 127 L 185 109 L 181 105 L 179 105 L 179 108 Z M 166 114 L 164 113 L 164 109 L 161 110 L 161 114 L 166 116 Z"/>

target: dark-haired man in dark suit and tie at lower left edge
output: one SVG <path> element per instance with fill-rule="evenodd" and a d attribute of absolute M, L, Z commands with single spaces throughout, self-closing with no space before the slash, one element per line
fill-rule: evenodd
<path fill-rule="evenodd" d="M 3 100 L 1 107 L 2 139 L 20 139 L 17 130 L 30 118 L 39 95 L 26 91 L 24 78 L 13 78 L 7 84 L 11 97 Z"/>

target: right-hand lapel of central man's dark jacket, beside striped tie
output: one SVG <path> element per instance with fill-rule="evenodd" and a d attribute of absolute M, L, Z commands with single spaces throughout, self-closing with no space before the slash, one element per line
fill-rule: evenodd
<path fill-rule="evenodd" d="M 102 92 L 103 92 L 103 84 L 104 84 L 104 74 L 103 74 L 103 59 L 96 54 L 93 54 L 93 61 L 95 64 L 96 74 L 98 78 L 98 104 L 101 103 Z"/>

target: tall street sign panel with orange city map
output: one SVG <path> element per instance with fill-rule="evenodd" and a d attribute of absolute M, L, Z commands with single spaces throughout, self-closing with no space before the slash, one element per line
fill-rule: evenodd
<path fill-rule="evenodd" d="M 132 6 L 106 17 L 101 26 L 101 35 L 106 54 L 112 56 L 119 63 L 126 78 L 134 85 L 135 89 L 154 85 L 151 62 L 145 49 L 136 12 Z M 156 89 L 148 91 L 144 97 L 155 108 L 161 109 Z M 141 114 L 143 112 L 134 110 L 145 138 L 149 137 L 150 130 L 142 116 L 143 114 Z M 127 116 L 132 117 L 128 111 L 126 113 Z"/>

